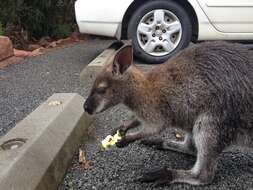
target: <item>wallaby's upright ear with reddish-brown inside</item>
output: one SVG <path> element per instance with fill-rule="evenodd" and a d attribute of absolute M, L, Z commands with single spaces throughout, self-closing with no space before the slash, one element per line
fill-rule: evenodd
<path fill-rule="evenodd" d="M 133 62 L 133 48 L 132 46 L 124 46 L 115 55 L 112 64 L 112 74 L 122 75 Z"/>

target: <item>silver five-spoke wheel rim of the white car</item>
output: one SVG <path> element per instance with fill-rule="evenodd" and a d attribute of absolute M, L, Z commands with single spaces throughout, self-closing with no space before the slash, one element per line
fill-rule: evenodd
<path fill-rule="evenodd" d="M 182 25 L 171 11 L 156 9 L 145 14 L 137 26 L 137 40 L 149 55 L 165 56 L 171 53 L 182 37 Z"/>

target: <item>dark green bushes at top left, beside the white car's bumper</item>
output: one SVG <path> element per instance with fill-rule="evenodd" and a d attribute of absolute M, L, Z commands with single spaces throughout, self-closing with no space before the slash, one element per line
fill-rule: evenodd
<path fill-rule="evenodd" d="M 0 18 L 28 32 L 29 38 L 66 37 L 71 32 L 75 0 L 4 0 Z M 56 31 L 55 31 L 56 30 Z"/>

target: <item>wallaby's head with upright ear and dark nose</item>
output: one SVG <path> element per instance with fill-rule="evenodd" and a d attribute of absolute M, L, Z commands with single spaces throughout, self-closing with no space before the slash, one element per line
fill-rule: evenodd
<path fill-rule="evenodd" d="M 98 74 L 90 95 L 84 103 L 89 114 L 100 113 L 112 106 L 123 103 L 129 80 L 128 68 L 133 62 L 131 46 L 124 46 L 116 52 Z"/>

